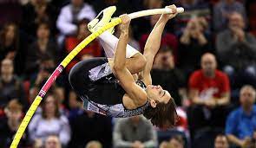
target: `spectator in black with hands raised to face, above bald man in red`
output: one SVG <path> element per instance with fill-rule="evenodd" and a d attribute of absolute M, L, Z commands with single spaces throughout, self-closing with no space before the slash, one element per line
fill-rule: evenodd
<path fill-rule="evenodd" d="M 200 66 L 200 57 L 210 51 L 210 34 L 204 17 L 195 17 L 187 23 L 180 38 L 179 65 L 188 74 Z"/>

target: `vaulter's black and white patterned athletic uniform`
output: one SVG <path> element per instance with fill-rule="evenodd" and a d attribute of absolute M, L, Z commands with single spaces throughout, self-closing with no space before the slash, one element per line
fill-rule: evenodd
<path fill-rule="evenodd" d="M 69 82 L 83 100 L 84 109 L 95 113 L 126 118 L 144 113 L 149 106 L 148 102 L 133 110 L 123 106 L 122 98 L 126 92 L 112 73 L 107 58 L 80 61 L 71 69 Z M 143 81 L 136 83 L 146 89 Z"/>

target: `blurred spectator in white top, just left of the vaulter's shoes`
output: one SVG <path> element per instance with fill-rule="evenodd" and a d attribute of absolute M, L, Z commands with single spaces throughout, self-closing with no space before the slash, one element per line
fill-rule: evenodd
<path fill-rule="evenodd" d="M 95 18 L 95 10 L 82 0 L 71 0 L 71 3 L 64 6 L 57 18 L 56 26 L 60 30 L 61 36 L 58 40 L 61 43 L 66 35 L 75 35 L 80 20 L 86 18 L 92 20 Z"/>

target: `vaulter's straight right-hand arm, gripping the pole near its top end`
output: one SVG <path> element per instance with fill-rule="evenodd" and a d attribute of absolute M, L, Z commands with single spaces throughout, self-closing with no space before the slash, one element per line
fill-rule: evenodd
<path fill-rule="evenodd" d="M 146 45 L 144 48 L 143 55 L 147 60 L 147 64 L 143 70 L 142 76 L 143 76 L 143 81 L 146 85 L 152 84 L 150 71 L 153 65 L 154 56 L 157 54 L 161 45 L 162 32 L 168 20 L 177 15 L 177 8 L 174 4 L 171 6 L 167 6 L 167 8 L 172 9 L 174 13 L 161 15 L 158 22 L 154 25 L 154 29 L 151 31 L 150 35 L 148 36 L 148 41 L 146 42 Z"/>

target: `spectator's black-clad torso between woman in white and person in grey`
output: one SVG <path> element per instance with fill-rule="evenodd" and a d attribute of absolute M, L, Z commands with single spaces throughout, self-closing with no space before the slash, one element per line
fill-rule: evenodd
<path fill-rule="evenodd" d="M 69 147 L 84 148 L 89 141 L 97 140 L 104 148 L 112 147 L 111 119 L 100 114 L 83 111 L 70 120 L 72 129 Z"/>

